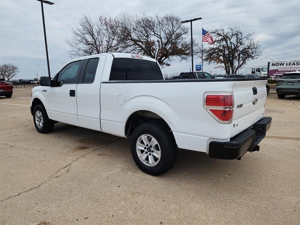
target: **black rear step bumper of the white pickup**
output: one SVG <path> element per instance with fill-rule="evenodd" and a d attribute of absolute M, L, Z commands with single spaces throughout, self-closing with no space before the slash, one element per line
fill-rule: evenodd
<path fill-rule="evenodd" d="M 209 157 L 215 159 L 240 159 L 247 151 L 259 151 L 258 143 L 271 127 L 271 117 L 264 117 L 252 127 L 235 135 L 227 142 L 209 143 Z"/>

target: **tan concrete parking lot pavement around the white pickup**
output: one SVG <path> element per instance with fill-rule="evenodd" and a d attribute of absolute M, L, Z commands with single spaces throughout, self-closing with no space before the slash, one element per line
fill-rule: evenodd
<path fill-rule="evenodd" d="M 300 101 L 267 98 L 271 129 L 241 161 L 179 151 L 154 177 L 129 141 L 58 123 L 35 130 L 30 88 L 0 98 L 0 224 L 298 224 Z M 18 97 L 18 98 L 16 98 Z"/>

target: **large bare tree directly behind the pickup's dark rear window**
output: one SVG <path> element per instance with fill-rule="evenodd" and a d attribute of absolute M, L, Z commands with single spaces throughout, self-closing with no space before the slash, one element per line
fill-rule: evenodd
<path fill-rule="evenodd" d="M 124 47 L 131 52 L 155 58 L 159 64 L 166 66 L 176 57 L 187 60 L 191 55 L 188 29 L 178 16 L 121 13 L 118 18 Z"/>

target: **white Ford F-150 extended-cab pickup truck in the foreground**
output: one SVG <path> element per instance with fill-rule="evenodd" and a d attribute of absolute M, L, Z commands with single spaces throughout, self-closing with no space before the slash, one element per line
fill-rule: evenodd
<path fill-rule="evenodd" d="M 155 59 L 105 53 L 74 59 L 32 89 L 31 114 L 40 133 L 56 122 L 131 136 L 137 166 L 167 172 L 178 149 L 210 158 L 241 159 L 258 151 L 271 126 L 262 78 L 164 80 Z M 74 137 L 75 138 L 75 137 Z"/>

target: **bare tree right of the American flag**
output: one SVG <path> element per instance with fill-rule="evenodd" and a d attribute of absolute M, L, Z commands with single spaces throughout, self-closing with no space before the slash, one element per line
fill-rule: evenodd
<path fill-rule="evenodd" d="M 203 59 L 208 63 L 219 64 L 217 67 L 225 69 L 227 75 L 236 73 L 247 61 L 262 55 L 261 45 L 252 38 L 254 32 L 243 35 L 240 28 L 235 26 L 214 28 L 209 33 L 214 38 L 214 45 L 204 44 Z M 199 47 L 198 56 L 201 57 Z"/>

